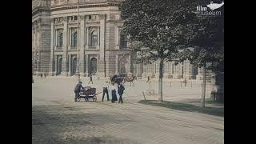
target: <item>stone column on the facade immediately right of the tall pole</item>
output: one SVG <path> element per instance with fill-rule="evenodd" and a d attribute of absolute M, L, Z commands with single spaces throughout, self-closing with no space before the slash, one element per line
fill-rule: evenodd
<path fill-rule="evenodd" d="M 80 65 L 80 75 L 82 77 L 85 76 L 85 68 L 84 68 L 84 62 L 85 62 L 85 57 L 84 57 L 84 54 L 85 54 L 85 42 L 84 42 L 84 39 L 85 39 L 85 16 L 82 15 L 80 17 L 80 31 L 79 31 L 79 42 L 80 42 L 80 59 L 79 59 L 79 65 Z M 78 33 L 77 33 L 78 34 Z"/>

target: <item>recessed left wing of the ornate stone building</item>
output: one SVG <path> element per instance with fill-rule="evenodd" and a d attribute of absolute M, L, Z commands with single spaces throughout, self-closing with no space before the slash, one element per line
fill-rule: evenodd
<path fill-rule="evenodd" d="M 50 0 L 32 1 L 32 68 L 40 74 L 49 71 Z"/>

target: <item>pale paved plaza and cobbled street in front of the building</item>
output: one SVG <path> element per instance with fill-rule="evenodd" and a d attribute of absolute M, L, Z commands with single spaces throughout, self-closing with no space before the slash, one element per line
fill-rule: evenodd
<path fill-rule="evenodd" d="M 83 86 L 102 91 L 104 79 Z M 74 102 L 75 77 L 34 77 L 32 84 L 32 142 L 35 143 L 141 143 L 141 144 L 218 144 L 224 143 L 224 118 L 196 112 L 172 110 L 138 103 L 149 84 L 144 80 L 125 84 L 125 103 Z M 164 82 L 163 99 L 182 102 L 201 96 L 201 82 Z M 150 89 L 157 93 L 158 82 Z M 206 98 L 210 97 L 210 85 Z M 148 96 L 146 99 L 157 99 Z"/>

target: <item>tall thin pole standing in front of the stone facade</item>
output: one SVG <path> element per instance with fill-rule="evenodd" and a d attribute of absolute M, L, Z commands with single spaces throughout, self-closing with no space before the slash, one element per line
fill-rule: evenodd
<path fill-rule="evenodd" d="M 79 71 L 79 46 L 80 46 L 80 17 L 79 17 L 79 0 L 78 0 L 78 30 L 77 30 L 77 69 L 76 69 L 76 75 L 78 76 L 78 82 L 80 81 L 80 71 Z"/>

